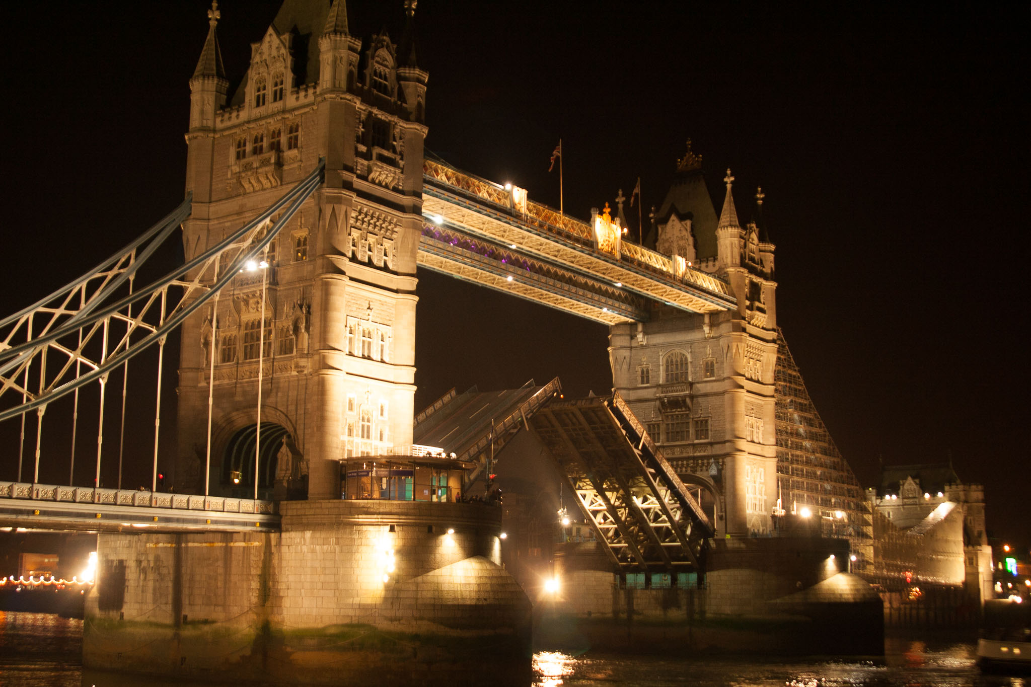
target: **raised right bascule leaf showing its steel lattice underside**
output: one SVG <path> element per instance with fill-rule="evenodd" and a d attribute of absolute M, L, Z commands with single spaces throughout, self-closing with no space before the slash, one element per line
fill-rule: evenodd
<path fill-rule="evenodd" d="M 626 412 L 619 397 L 555 402 L 532 425 L 613 563 L 697 568 L 711 525 Z"/>

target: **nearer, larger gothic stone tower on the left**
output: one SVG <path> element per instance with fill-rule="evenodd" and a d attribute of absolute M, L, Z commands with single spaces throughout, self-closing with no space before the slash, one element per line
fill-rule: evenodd
<path fill-rule="evenodd" d="M 274 485 L 277 497 L 339 497 L 338 458 L 411 443 L 428 78 L 415 63 L 414 6 L 405 3 L 398 45 L 386 34 L 363 44 L 345 0 L 286 0 L 227 101 L 212 3 L 190 79 L 187 259 L 323 158 L 326 174 L 270 247 L 268 268 L 241 273 L 217 317 L 209 308 L 182 327 L 180 490 L 203 489 L 210 390 L 211 493 L 253 492 L 259 359 L 262 495 Z"/>

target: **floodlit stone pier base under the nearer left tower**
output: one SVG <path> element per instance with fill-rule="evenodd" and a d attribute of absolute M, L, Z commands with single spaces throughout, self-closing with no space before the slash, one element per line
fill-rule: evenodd
<path fill-rule="evenodd" d="M 282 684 L 529 682 L 530 604 L 499 564 L 500 509 L 309 501 L 280 513 L 280 533 L 101 534 L 84 665 Z"/>

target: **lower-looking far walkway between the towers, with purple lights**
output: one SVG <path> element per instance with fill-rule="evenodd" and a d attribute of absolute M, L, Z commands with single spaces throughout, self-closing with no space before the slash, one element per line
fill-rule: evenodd
<path fill-rule="evenodd" d="M 442 238 L 435 235 L 441 233 Z M 483 255 L 453 243 L 461 237 L 479 245 L 490 245 L 491 254 Z M 451 240 L 448 240 L 451 239 Z M 499 257 L 499 255 L 502 255 Z M 468 279 L 481 286 L 519 296 L 563 312 L 580 315 L 603 324 L 619 324 L 647 319 L 644 300 L 618 289 L 607 281 L 585 277 L 563 267 L 520 256 L 525 269 L 503 262 L 519 253 L 486 242 L 461 229 L 427 225 L 419 242 L 417 260 L 428 269 Z"/>

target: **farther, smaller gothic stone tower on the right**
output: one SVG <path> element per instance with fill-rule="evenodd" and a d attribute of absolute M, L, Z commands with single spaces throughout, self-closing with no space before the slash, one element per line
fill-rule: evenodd
<path fill-rule="evenodd" d="M 657 249 L 721 276 L 737 308 L 691 314 L 656 305 L 650 321 L 611 328 L 609 358 L 613 387 L 674 470 L 712 492 L 718 533 L 749 535 L 770 531 L 777 507 L 776 282 L 773 244 L 758 216 L 741 228 L 733 180 L 727 170 L 717 220 L 689 141 L 656 222 Z"/>

